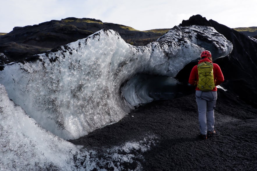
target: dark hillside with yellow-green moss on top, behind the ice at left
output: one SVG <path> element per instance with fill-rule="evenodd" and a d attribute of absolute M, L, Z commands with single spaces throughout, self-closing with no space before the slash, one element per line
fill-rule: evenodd
<path fill-rule="evenodd" d="M 104 28 L 117 31 L 127 43 L 134 46 L 155 41 L 169 31 L 169 29 L 139 31 L 125 25 L 73 17 L 51 20 L 33 26 L 14 27 L 10 33 L 0 36 L 0 52 L 7 57 L 1 58 L 0 64 L 86 38 Z"/>

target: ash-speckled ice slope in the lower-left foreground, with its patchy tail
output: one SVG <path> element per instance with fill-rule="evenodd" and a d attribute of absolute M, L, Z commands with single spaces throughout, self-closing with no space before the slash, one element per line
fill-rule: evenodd
<path fill-rule="evenodd" d="M 1 84 L 0 94 L 0 170 L 101 170 L 103 166 L 123 170 L 123 163 L 142 158 L 137 150 L 146 151 L 154 143 L 155 137 L 146 135 L 144 141 L 126 142 L 101 152 L 82 149 L 38 125 L 9 100 Z M 140 167 L 138 163 L 137 170 Z"/>

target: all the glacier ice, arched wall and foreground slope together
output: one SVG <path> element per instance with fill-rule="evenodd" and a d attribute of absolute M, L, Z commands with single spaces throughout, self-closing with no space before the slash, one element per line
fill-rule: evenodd
<path fill-rule="evenodd" d="M 145 46 L 127 44 L 117 32 L 103 29 L 1 66 L 1 170 L 93 170 L 99 163 L 121 170 L 112 161 L 132 163 L 135 156 L 118 151 L 146 151 L 155 135 L 103 149 L 102 159 L 98 151 L 65 140 L 119 121 L 135 106 L 165 94 L 164 85 L 175 93 L 176 74 L 205 49 L 216 59 L 233 46 L 208 26 L 175 26 Z"/>

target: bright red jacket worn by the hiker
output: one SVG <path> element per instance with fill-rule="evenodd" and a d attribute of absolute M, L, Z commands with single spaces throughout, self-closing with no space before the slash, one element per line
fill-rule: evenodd
<path fill-rule="evenodd" d="M 201 62 L 211 62 L 211 61 L 209 60 L 209 58 L 205 57 L 205 58 L 201 59 L 198 62 L 198 64 Z M 220 69 L 219 65 L 215 64 L 215 63 L 213 63 L 213 76 L 214 76 L 215 85 L 220 85 L 224 81 L 224 76 L 221 72 L 221 69 Z M 190 73 L 189 81 L 188 81 L 189 84 L 196 86 L 197 82 L 198 82 L 198 78 L 199 78 L 199 76 L 198 76 L 198 70 L 197 70 L 197 65 L 196 65 L 193 67 L 193 69 Z M 200 89 L 198 87 L 196 87 L 195 90 L 200 90 Z M 217 91 L 217 87 L 215 86 L 215 88 L 213 88 L 212 91 Z"/>

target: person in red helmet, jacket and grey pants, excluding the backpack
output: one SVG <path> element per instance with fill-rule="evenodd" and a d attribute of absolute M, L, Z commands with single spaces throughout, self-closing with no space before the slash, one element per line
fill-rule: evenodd
<path fill-rule="evenodd" d="M 214 109 L 217 100 L 217 85 L 224 81 L 224 76 L 218 64 L 212 62 L 212 55 L 210 51 L 204 50 L 201 53 L 201 58 L 198 62 L 211 62 L 213 64 L 213 76 L 215 87 L 211 91 L 201 91 L 197 87 L 198 83 L 198 69 L 197 65 L 192 68 L 189 76 L 189 84 L 196 86 L 196 103 L 198 106 L 198 120 L 199 120 L 199 136 L 202 139 L 212 137 L 216 132 L 214 130 Z"/>

